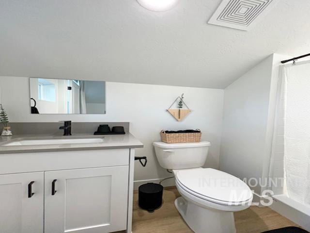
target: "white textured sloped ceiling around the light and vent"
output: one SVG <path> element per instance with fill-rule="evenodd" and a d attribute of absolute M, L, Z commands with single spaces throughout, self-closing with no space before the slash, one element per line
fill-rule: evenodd
<path fill-rule="evenodd" d="M 248 32 L 207 24 L 219 3 L 0 0 L 0 75 L 225 88 L 273 52 L 310 52 L 310 0 L 280 0 Z"/>

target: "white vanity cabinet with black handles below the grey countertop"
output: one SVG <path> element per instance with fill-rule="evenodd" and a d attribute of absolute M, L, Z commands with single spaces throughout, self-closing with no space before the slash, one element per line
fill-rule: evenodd
<path fill-rule="evenodd" d="M 0 233 L 131 233 L 134 149 L 0 154 Z"/>

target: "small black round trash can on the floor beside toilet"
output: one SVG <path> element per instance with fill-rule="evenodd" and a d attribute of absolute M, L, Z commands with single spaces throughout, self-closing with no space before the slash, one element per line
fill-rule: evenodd
<path fill-rule="evenodd" d="M 139 187 L 139 206 L 147 211 L 159 208 L 163 200 L 164 187 L 158 183 L 146 183 Z"/>

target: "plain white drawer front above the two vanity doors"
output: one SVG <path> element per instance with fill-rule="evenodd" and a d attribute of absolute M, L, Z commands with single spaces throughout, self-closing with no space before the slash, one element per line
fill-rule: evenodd
<path fill-rule="evenodd" d="M 0 174 L 129 165 L 129 149 L 0 155 Z"/>

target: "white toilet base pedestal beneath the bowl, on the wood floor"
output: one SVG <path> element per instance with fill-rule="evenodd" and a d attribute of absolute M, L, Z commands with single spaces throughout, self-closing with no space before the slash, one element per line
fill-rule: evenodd
<path fill-rule="evenodd" d="M 208 209 L 179 197 L 175 207 L 195 233 L 236 233 L 233 212 Z"/>

